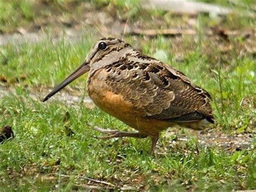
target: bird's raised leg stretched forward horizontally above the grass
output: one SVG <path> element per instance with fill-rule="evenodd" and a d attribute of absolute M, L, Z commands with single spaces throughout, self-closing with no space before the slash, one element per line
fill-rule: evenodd
<path fill-rule="evenodd" d="M 99 139 L 122 138 L 123 136 L 127 136 L 130 138 L 146 138 L 147 137 L 146 134 L 143 134 L 140 132 L 130 133 L 130 132 L 120 132 L 118 130 L 102 129 L 102 128 L 99 128 L 96 126 L 92 126 L 88 122 L 87 122 L 87 125 L 92 127 L 93 129 L 95 129 L 98 132 L 109 134 L 107 136 L 99 137 Z"/>

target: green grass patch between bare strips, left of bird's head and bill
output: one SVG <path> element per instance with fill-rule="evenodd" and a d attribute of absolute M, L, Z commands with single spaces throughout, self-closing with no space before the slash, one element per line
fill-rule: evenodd
<path fill-rule="evenodd" d="M 62 80 L 68 72 L 75 70 L 91 46 L 90 40 L 83 40 L 78 45 L 71 45 L 65 40 L 61 40 L 57 45 L 51 40 L 33 46 L 7 45 L 1 47 L 3 72 L 10 82 L 25 76 L 25 83 L 28 85 L 53 86 L 56 80 Z"/>

